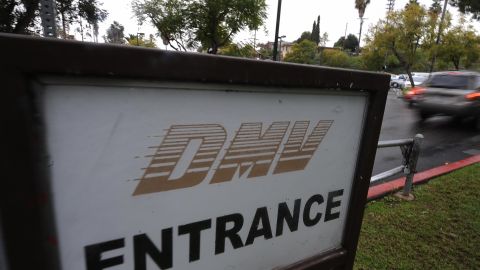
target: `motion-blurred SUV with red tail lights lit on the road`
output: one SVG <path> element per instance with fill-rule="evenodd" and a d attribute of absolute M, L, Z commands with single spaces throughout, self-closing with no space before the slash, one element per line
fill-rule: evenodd
<path fill-rule="evenodd" d="M 480 130 L 480 73 L 436 72 L 407 92 L 420 119 L 434 115 L 473 118 Z"/>

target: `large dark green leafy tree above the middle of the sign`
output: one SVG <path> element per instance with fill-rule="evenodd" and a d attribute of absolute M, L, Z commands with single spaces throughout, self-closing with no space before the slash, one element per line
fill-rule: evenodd
<path fill-rule="evenodd" d="M 148 19 L 175 50 L 203 48 L 216 54 L 243 29 L 257 30 L 266 18 L 265 0 L 135 0 L 140 21 Z"/>

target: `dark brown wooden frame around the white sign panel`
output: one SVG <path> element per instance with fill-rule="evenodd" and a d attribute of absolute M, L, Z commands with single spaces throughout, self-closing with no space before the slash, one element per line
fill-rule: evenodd
<path fill-rule="evenodd" d="M 368 94 L 342 247 L 288 269 L 351 269 L 380 133 L 389 76 L 277 63 L 0 34 L 0 229 L 10 270 L 60 269 L 45 134 L 32 90 L 38 76 L 221 83 Z M 0 238 L 2 240 L 2 238 Z M 2 249 L 0 248 L 0 252 Z M 0 256 L 2 256 L 0 254 Z"/>

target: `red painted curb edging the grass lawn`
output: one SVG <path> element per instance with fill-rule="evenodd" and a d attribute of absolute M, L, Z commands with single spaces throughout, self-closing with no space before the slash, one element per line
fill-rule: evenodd
<path fill-rule="evenodd" d="M 419 184 L 426 182 L 434 177 L 458 170 L 460 168 L 466 167 L 468 165 L 480 162 L 480 155 L 471 156 L 469 158 L 459 160 L 450 164 L 442 165 L 433 169 L 429 169 L 423 172 L 416 173 L 413 177 L 413 184 Z M 373 187 L 370 187 L 368 190 L 368 200 L 377 199 L 383 197 L 389 193 L 397 191 L 405 185 L 405 177 L 400 177 L 398 179 L 379 184 Z"/>

